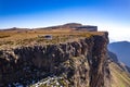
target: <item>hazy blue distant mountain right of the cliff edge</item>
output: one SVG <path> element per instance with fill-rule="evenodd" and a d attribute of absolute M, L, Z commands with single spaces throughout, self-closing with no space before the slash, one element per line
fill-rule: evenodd
<path fill-rule="evenodd" d="M 118 41 L 108 45 L 108 50 L 116 53 L 119 61 L 130 66 L 130 42 Z"/>

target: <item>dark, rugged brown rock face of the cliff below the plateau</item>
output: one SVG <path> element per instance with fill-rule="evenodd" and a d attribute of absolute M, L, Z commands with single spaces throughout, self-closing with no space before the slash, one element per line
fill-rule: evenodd
<path fill-rule="evenodd" d="M 65 87 L 110 87 L 107 33 L 79 41 L 0 50 L 0 86 L 29 86 L 48 76 Z"/>

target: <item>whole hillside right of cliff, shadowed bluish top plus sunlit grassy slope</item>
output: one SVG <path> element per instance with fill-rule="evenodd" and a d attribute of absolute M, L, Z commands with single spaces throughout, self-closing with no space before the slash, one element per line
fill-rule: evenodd
<path fill-rule="evenodd" d="M 120 63 L 115 53 L 108 52 L 109 71 L 112 87 L 129 87 L 130 86 L 130 69 Z"/>

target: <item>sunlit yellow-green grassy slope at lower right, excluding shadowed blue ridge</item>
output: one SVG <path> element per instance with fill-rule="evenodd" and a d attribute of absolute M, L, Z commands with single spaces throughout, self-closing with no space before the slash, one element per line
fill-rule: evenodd
<path fill-rule="evenodd" d="M 130 74 L 123 72 L 117 64 L 110 63 L 112 87 L 130 87 Z"/>

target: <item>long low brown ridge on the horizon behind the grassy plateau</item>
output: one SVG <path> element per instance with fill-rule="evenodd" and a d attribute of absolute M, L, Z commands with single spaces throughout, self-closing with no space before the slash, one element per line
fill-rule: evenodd
<path fill-rule="evenodd" d="M 38 28 L 18 28 L 18 27 L 12 27 L 12 28 L 5 28 L 0 29 L 0 32 L 4 30 L 28 30 L 28 29 L 69 29 L 69 30 L 81 30 L 81 32 L 98 32 L 98 26 L 94 25 L 82 25 L 80 23 L 67 23 L 63 25 L 55 25 L 55 26 L 49 26 L 49 27 L 38 27 Z"/>

